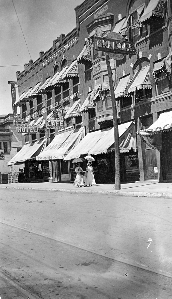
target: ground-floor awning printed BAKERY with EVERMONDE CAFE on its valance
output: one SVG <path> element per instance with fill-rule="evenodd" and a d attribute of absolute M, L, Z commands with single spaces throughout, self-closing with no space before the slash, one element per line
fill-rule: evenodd
<path fill-rule="evenodd" d="M 58 134 L 54 137 L 48 147 L 36 157 L 36 160 L 63 159 L 84 137 L 84 126 L 80 129 Z"/>

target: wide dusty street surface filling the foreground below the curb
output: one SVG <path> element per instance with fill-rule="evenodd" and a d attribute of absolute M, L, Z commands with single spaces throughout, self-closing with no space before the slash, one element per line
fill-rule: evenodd
<path fill-rule="evenodd" d="M 45 299 L 171 298 L 171 199 L 0 193 L 0 271 L 22 289 Z M 1 298 L 14 298 L 4 284 Z"/>

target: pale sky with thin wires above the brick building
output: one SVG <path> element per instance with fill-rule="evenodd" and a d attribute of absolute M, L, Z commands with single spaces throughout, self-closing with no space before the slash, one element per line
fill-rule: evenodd
<path fill-rule="evenodd" d="M 66 35 L 76 27 L 74 8 L 82 2 L 83 0 L 0 0 L 0 115 L 12 113 L 8 81 L 17 81 L 16 71 L 23 71 L 24 64 L 30 59 L 38 59 L 39 52 L 46 52 L 51 48 L 53 40 L 61 33 Z M 16 95 L 18 98 L 18 89 Z"/>

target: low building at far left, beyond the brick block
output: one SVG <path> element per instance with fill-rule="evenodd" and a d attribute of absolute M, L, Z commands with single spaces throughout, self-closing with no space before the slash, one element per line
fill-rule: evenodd
<path fill-rule="evenodd" d="M 18 115 L 20 123 L 20 115 Z M 13 114 L 0 115 L 0 184 L 18 182 L 19 169 L 24 165 L 11 165 L 8 162 L 22 149 L 25 144 L 21 134 L 13 125 Z"/>

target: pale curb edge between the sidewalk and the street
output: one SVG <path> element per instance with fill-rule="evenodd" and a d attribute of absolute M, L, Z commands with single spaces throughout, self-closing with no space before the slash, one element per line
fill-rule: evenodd
<path fill-rule="evenodd" d="M 55 192 L 68 192 L 68 193 L 87 193 L 87 194 L 102 194 L 113 196 L 128 196 L 128 197 L 156 197 L 156 198 L 172 198 L 169 193 L 151 193 L 151 192 L 133 192 L 133 191 L 96 191 L 96 190 L 73 190 L 73 189 L 56 189 L 56 188 L 27 188 L 27 187 L 1 187 L 0 189 L 17 189 L 17 190 L 38 190 L 38 191 L 55 191 Z"/>

